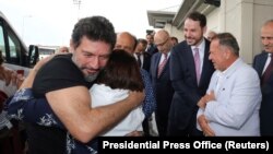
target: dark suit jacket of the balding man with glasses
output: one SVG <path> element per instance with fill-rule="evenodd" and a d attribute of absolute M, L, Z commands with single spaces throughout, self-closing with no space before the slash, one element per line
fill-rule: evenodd
<path fill-rule="evenodd" d="M 166 135 L 167 125 L 168 125 L 168 114 L 174 95 L 174 88 L 171 86 L 170 75 L 169 75 L 169 58 L 161 75 L 157 76 L 161 57 L 162 52 L 156 52 L 153 55 L 151 60 L 150 73 L 152 76 L 152 84 L 157 103 L 157 108 L 155 111 L 157 129 L 159 135 Z"/>

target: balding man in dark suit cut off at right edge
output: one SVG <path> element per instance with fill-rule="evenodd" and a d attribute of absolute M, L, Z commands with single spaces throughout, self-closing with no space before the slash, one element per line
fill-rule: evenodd
<path fill-rule="evenodd" d="M 253 60 L 253 68 L 261 79 L 260 129 L 261 135 L 273 135 L 273 20 L 262 26 L 261 40 L 264 51 Z"/>

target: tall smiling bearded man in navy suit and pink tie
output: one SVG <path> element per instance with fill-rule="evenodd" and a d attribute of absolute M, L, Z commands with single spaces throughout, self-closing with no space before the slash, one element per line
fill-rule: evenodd
<path fill-rule="evenodd" d="M 198 102 L 205 94 L 214 67 L 209 60 L 210 42 L 203 37 L 206 17 L 192 12 L 183 26 L 186 40 L 173 48 L 170 81 L 175 90 L 168 135 L 202 135 L 197 129 Z"/>

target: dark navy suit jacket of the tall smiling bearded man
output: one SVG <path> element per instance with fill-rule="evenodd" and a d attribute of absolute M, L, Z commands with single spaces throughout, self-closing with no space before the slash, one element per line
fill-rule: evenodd
<path fill-rule="evenodd" d="M 210 42 L 207 39 L 204 42 L 204 59 L 199 85 L 191 46 L 186 40 L 181 42 L 173 48 L 170 55 L 170 81 L 175 94 L 169 110 L 169 122 L 179 130 L 187 129 L 190 122 L 195 125 L 197 104 L 205 94 L 214 72 L 213 63 L 209 60 Z"/>

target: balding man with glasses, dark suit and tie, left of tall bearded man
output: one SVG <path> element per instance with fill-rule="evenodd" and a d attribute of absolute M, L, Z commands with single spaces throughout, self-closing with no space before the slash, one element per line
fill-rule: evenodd
<path fill-rule="evenodd" d="M 174 95 L 169 78 L 169 56 L 173 45 L 169 34 L 165 29 L 156 32 L 154 42 L 158 52 L 152 57 L 150 73 L 157 103 L 155 109 L 156 126 L 159 137 L 165 137 L 167 134 L 169 107 Z"/>

